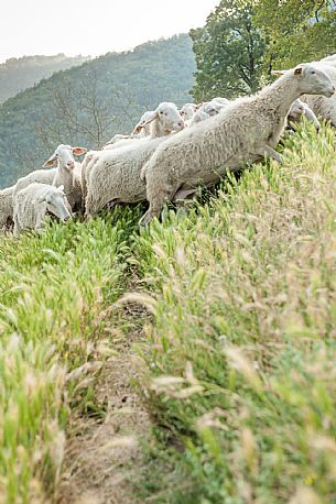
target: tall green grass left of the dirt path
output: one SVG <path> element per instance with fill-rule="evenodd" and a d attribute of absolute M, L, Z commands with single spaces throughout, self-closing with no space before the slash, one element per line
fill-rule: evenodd
<path fill-rule="evenodd" d="M 123 289 L 130 221 L 51 224 L 1 240 L 0 502 L 40 503 L 55 492 L 69 407 L 90 406 L 105 358 L 101 311 Z"/>

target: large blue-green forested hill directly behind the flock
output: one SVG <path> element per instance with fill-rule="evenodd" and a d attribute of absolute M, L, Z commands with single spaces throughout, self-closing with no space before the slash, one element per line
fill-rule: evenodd
<path fill-rule="evenodd" d="M 37 168 L 58 143 L 101 146 L 160 101 L 191 99 L 196 69 L 182 34 L 54 74 L 0 107 L 0 187 Z"/>

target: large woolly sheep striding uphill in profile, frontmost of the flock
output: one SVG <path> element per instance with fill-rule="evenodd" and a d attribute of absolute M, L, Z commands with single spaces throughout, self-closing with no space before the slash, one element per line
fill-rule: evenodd
<path fill-rule="evenodd" d="M 274 147 L 293 101 L 303 94 L 330 97 L 335 87 L 323 70 L 310 64 L 280 74 L 258 95 L 232 101 L 217 117 L 177 133 L 158 147 L 141 173 L 150 202 L 141 226 L 159 216 L 165 201 L 177 198 L 181 190 L 196 188 L 199 183 L 214 184 L 227 171 L 265 155 L 282 161 Z"/>

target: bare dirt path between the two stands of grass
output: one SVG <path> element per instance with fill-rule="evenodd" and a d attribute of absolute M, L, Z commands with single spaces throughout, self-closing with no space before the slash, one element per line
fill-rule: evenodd
<path fill-rule="evenodd" d="M 68 439 L 57 504 L 140 503 L 131 481 L 150 418 L 131 384 L 134 368 L 130 349 L 106 364 L 98 399 L 108 404 L 107 415 L 102 423 L 84 420 Z"/>

